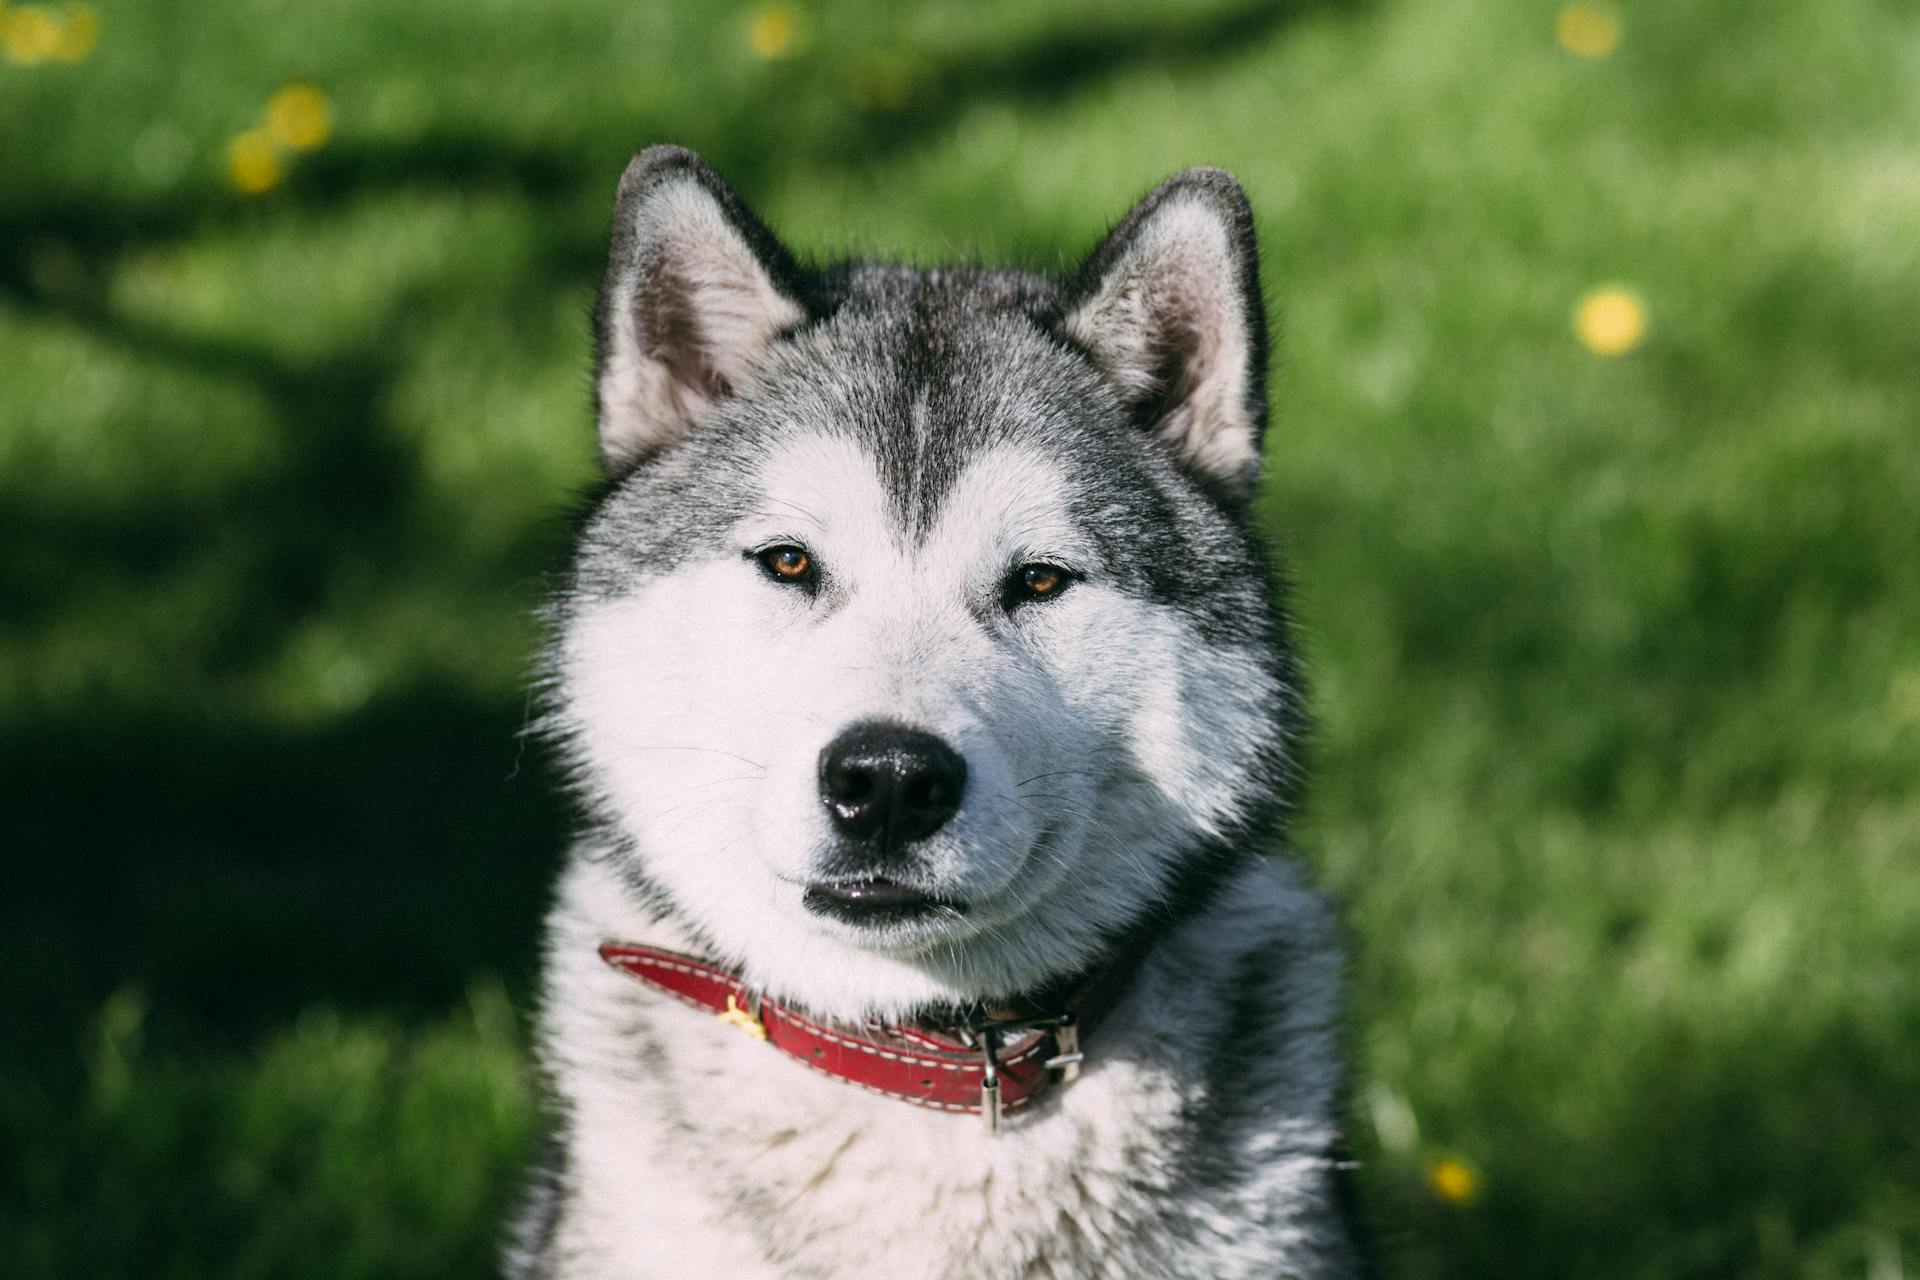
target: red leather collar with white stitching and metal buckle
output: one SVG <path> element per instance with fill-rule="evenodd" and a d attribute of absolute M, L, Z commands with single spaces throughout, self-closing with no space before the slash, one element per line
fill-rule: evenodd
<path fill-rule="evenodd" d="M 1135 963 L 1100 969 L 1050 1013 L 983 1015 L 964 1027 L 849 1027 L 824 1023 L 756 998 L 728 973 L 693 956 L 636 942 L 601 942 L 601 960 L 647 986 L 737 1025 L 756 1040 L 824 1075 L 933 1111 L 983 1115 L 1033 1103 L 1079 1075 L 1079 1040 L 1117 1002 Z"/>

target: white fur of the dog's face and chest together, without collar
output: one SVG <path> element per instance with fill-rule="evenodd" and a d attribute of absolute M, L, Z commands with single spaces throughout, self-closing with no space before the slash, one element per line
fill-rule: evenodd
<path fill-rule="evenodd" d="M 1260 747 L 1248 708 L 1271 677 L 1102 581 L 1056 466 L 985 453 L 910 543 L 872 459 L 801 438 L 766 459 L 737 547 L 574 618 L 561 676 L 586 764 L 649 877 L 751 983 L 847 1019 L 1020 986 L 1235 818 L 1227 777 Z M 828 574 L 818 599 L 741 555 L 785 541 Z M 1087 578 L 1018 622 L 975 606 L 1033 558 Z M 941 733 L 970 768 L 931 862 L 975 910 L 908 944 L 801 906 L 826 844 L 814 762 L 870 716 Z M 1021 802 L 1046 773 L 1050 798 Z M 989 1136 L 977 1117 L 820 1077 L 601 963 L 607 938 L 697 948 L 628 894 L 614 856 L 578 850 L 549 931 L 541 1048 L 568 1163 L 545 1257 L 561 1274 L 1344 1274 L 1329 1228 L 1338 952 L 1279 864 L 1252 864 L 1162 938 L 1083 1077 Z M 1263 1011 L 1246 1031 L 1260 1069 L 1236 1086 L 1256 1119 L 1196 1153 L 1194 1117 L 1235 1102 L 1210 1094 L 1210 1067 L 1236 1044 L 1240 998 Z M 1204 1159 L 1233 1176 L 1196 1173 Z"/>

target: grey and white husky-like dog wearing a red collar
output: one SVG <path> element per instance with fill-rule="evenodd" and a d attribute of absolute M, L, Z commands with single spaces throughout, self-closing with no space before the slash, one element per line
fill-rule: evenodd
<path fill-rule="evenodd" d="M 611 242 L 509 1270 L 1361 1274 L 1240 186 L 810 269 L 660 146 Z"/>

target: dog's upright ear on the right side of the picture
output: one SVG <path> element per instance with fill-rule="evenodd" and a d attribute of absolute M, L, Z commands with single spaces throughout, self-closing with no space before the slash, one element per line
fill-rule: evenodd
<path fill-rule="evenodd" d="M 1254 213 L 1219 169 L 1162 182 L 1068 290 L 1068 338 L 1208 487 L 1246 497 L 1267 426 Z"/>

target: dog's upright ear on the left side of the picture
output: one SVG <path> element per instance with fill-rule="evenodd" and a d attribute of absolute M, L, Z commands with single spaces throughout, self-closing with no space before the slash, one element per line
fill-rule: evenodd
<path fill-rule="evenodd" d="M 720 175 L 678 146 L 636 155 L 620 177 L 595 313 L 607 466 L 672 443 L 804 319 L 793 255 Z"/>

